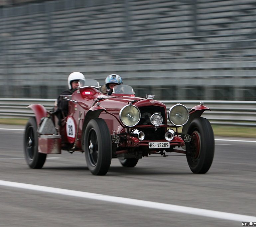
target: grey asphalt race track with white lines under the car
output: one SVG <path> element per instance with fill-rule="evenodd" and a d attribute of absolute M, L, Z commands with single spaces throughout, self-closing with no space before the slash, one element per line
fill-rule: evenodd
<path fill-rule="evenodd" d="M 113 159 L 107 175 L 94 176 L 79 152 L 28 168 L 22 129 L 0 125 L 1 227 L 256 225 L 256 140 L 216 138 L 206 174 L 174 153 L 135 168 Z"/>

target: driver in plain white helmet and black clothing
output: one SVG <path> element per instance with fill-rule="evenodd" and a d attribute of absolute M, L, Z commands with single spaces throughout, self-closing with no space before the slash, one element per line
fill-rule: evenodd
<path fill-rule="evenodd" d="M 56 114 L 59 118 L 59 125 L 61 126 L 61 120 L 67 116 L 68 113 L 68 102 L 63 100 L 61 95 L 71 95 L 78 88 L 78 81 L 80 79 L 85 79 L 81 72 L 72 72 L 67 78 L 68 90 L 63 91 L 58 97 L 58 109 Z"/>

